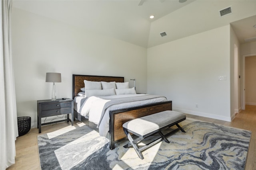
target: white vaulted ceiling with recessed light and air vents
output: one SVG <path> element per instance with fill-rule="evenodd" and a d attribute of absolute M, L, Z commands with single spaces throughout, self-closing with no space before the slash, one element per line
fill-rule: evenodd
<path fill-rule="evenodd" d="M 13 7 L 145 48 L 230 23 L 240 43 L 256 37 L 256 0 L 14 0 Z"/>

